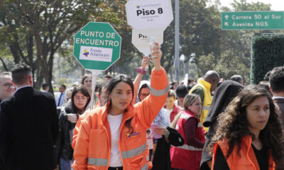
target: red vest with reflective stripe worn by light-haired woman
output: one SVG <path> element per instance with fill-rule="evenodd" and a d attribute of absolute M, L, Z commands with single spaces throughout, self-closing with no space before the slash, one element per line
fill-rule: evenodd
<path fill-rule="evenodd" d="M 184 125 L 189 118 L 195 118 L 198 122 L 195 138 L 197 138 L 197 140 L 200 140 L 201 142 L 205 142 L 204 130 L 202 128 L 200 120 L 196 117 L 195 114 L 191 113 L 188 110 L 182 112 L 182 115 L 180 115 L 175 129 L 178 130 L 180 135 L 182 135 L 182 137 L 185 139 Z M 200 169 L 202 149 L 203 148 L 197 148 L 188 145 L 186 140 L 185 144 L 181 147 L 171 146 L 171 167 L 175 169 Z"/>

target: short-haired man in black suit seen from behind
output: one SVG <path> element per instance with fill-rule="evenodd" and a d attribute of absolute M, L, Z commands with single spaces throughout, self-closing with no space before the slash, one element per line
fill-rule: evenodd
<path fill-rule="evenodd" d="M 52 94 L 33 89 L 31 67 L 16 64 L 13 96 L 1 103 L 0 157 L 6 169 L 55 169 L 53 146 L 59 133 Z"/>

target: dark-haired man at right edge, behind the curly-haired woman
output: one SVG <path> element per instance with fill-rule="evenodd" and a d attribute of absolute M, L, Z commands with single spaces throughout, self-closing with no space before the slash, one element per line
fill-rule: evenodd
<path fill-rule="evenodd" d="M 273 100 L 280 109 L 280 118 L 284 122 L 284 67 L 275 67 L 269 76 L 270 89 L 273 94 Z M 283 160 L 280 160 L 277 169 L 284 169 Z"/>

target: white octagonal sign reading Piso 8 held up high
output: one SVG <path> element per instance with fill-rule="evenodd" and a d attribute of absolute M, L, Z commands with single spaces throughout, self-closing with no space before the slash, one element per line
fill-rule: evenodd
<path fill-rule="evenodd" d="M 173 21 L 172 3 L 170 0 L 129 0 L 126 3 L 126 16 L 129 26 L 136 30 L 165 30 Z"/>

